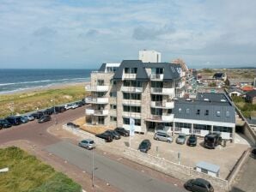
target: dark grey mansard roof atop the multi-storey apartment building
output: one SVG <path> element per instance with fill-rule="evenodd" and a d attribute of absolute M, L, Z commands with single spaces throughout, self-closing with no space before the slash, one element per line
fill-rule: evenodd
<path fill-rule="evenodd" d="M 125 68 L 137 68 L 136 79 L 140 81 L 149 81 L 149 75 L 146 72 L 146 69 L 149 68 L 162 68 L 164 71 L 164 81 L 172 81 L 180 78 L 180 72 L 182 70 L 178 64 L 143 63 L 141 60 L 124 60 L 113 75 L 113 79 L 121 80 Z"/>

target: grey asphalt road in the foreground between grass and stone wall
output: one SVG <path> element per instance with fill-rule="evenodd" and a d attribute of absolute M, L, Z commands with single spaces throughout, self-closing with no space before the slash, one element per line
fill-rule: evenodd
<path fill-rule="evenodd" d="M 67 160 L 70 164 L 76 165 L 83 171 L 92 172 L 92 151 L 88 151 L 82 147 L 78 147 L 67 141 L 60 141 L 56 144 L 46 147 L 50 153 Z M 141 171 L 131 169 L 112 159 L 94 153 L 94 175 L 107 181 L 122 191 L 142 192 L 142 191 L 172 191 L 181 192 L 170 183 L 164 183 L 161 180 L 149 177 Z"/>

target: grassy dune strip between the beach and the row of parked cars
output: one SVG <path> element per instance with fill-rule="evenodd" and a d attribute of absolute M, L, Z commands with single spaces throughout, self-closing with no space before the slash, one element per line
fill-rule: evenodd
<path fill-rule="evenodd" d="M 83 86 L 70 86 L 29 93 L 0 95 L 0 117 L 35 111 L 37 108 L 44 109 L 54 105 L 54 103 L 59 105 L 76 101 L 83 99 L 86 94 Z"/>

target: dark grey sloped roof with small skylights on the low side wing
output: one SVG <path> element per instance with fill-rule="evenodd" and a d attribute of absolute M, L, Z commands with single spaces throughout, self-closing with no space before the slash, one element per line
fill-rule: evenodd
<path fill-rule="evenodd" d="M 199 114 L 197 114 L 198 111 Z M 208 115 L 206 115 L 206 111 L 208 111 Z M 217 116 L 217 111 L 220 112 L 219 116 Z M 174 101 L 173 112 L 175 118 L 235 123 L 235 107 L 229 100 L 222 102 L 177 99 Z"/>

